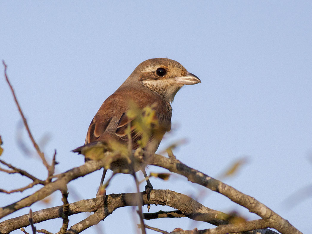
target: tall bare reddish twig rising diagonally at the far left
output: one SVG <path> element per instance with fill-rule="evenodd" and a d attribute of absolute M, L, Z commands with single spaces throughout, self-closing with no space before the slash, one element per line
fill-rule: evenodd
<path fill-rule="evenodd" d="M 49 163 L 46 161 L 46 158 L 45 158 L 45 156 L 44 156 L 44 153 L 41 152 L 41 150 L 40 150 L 38 144 L 36 143 L 35 139 L 34 139 L 33 136 L 32 136 L 32 133 L 30 132 L 30 129 L 29 129 L 28 124 L 27 124 L 27 120 L 26 120 L 26 118 L 25 118 L 25 116 L 24 116 L 24 114 L 23 114 L 23 112 L 22 112 L 21 106 L 19 105 L 19 103 L 18 103 L 18 101 L 17 101 L 17 97 L 16 97 L 15 92 L 14 92 L 14 89 L 13 89 L 13 87 L 12 87 L 10 81 L 9 81 L 9 78 L 7 77 L 7 65 L 6 65 L 6 63 L 4 62 L 4 60 L 2 60 L 2 63 L 3 63 L 3 66 L 4 66 L 4 76 L 5 76 L 5 79 L 7 80 L 7 83 L 8 83 L 8 85 L 10 86 L 12 95 L 13 95 L 13 97 L 14 97 L 14 101 L 15 101 L 15 103 L 16 103 L 16 105 L 17 105 L 18 112 L 19 112 L 20 115 L 22 116 L 22 119 L 23 119 L 25 128 L 26 128 L 26 130 L 27 130 L 28 136 L 29 136 L 30 140 L 32 141 L 33 146 L 34 146 L 35 149 L 37 150 L 37 153 L 38 153 L 38 155 L 40 156 L 43 165 L 45 165 L 46 169 L 49 170 L 49 169 L 50 169 L 50 165 L 49 165 Z"/>

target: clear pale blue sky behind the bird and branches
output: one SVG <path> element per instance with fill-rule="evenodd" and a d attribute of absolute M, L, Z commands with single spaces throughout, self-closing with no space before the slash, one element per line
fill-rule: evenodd
<path fill-rule="evenodd" d="M 282 201 L 312 183 L 311 12 L 311 1 L 1 1 L 0 58 L 8 65 L 34 137 L 38 141 L 46 134 L 51 137 L 44 149 L 49 157 L 57 149 L 59 172 L 83 163 L 70 150 L 84 143 L 102 102 L 139 63 L 154 57 L 180 62 L 202 84 L 184 87 L 176 95 L 174 131 L 159 149 L 187 139 L 174 153 L 212 177 L 248 156 L 236 177 L 224 182 L 309 233 L 312 197 L 292 209 Z M 40 162 L 24 156 L 17 147 L 21 118 L 3 76 L 0 87 L 0 134 L 5 150 L 1 158 L 44 178 Z M 28 144 L 25 132 L 23 136 Z M 150 167 L 149 171 L 165 170 Z M 70 183 L 70 202 L 94 197 L 100 174 Z M 28 182 L 4 173 L 0 181 L 0 188 L 5 189 Z M 191 196 L 201 189 L 182 177 L 169 182 L 152 178 L 151 183 L 157 189 Z M 74 190 L 79 197 L 73 196 Z M 131 176 L 118 175 L 107 193 L 134 190 Z M 0 206 L 33 191 L 0 194 Z M 55 193 L 50 206 L 61 204 L 59 197 Z M 256 218 L 217 193 L 199 201 L 212 209 L 238 210 Z M 39 203 L 31 206 L 33 211 L 42 207 Z M 152 206 L 151 212 L 159 209 L 165 208 Z M 70 225 L 79 218 L 84 215 L 70 217 Z M 167 231 L 212 227 L 186 218 L 146 223 Z M 51 232 L 60 226 L 61 220 L 36 225 Z M 115 211 L 101 227 L 105 233 L 135 233 L 132 209 Z M 94 233 L 94 229 L 84 233 Z"/>

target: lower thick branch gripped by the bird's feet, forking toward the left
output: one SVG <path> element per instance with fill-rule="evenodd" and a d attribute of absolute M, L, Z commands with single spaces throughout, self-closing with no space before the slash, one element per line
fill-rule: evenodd
<path fill-rule="evenodd" d="M 96 225 L 108 215 L 113 213 L 115 209 L 125 206 L 136 206 L 138 193 L 121 193 L 110 194 L 105 197 L 105 208 L 103 208 L 103 198 L 93 198 L 81 200 L 69 204 L 68 215 L 73 215 L 81 212 L 96 212 L 85 220 L 74 224 L 67 233 L 79 233 L 86 228 Z M 209 222 L 213 225 L 228 224 L 229 215 L 209 209 L 192 198 L 176 193 L 170 190 L 152 190 L 150 200 L 147 200 L 146 194 L 141 193 L 143 204 L 158 204 L 173 207 L 181 210 L 184 217 L 189 217 L 193 220 Z M 33 212 L 34 224 L 46 220 L 62 217 L 63 206 L 52 207 Z M 0 223 L 0 233 L 7 234 L 13 230 L 29 225 L 28 215 L 12 218 Z M 220 226 L 222 227 L 222 226 Z M 261 226 L 262 227 L 262 226 Z M 258 227 L 259 228 L 259 227 Z"/>

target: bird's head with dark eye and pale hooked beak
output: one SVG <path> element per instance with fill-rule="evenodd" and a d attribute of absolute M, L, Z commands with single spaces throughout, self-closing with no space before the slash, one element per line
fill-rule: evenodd
<path fill-rule="evenodd" d="M 144 87 L 163 96 L 170 103 L 183 85 L 201 83 L 197 76 L 188 72 L 180 63 L 167 58 L 142 62 L 128 79 L 141 82 Z"/>

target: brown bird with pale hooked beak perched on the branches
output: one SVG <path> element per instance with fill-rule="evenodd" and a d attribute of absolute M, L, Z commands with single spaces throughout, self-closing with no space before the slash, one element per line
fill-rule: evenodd
<path fill-rule="evenodd" d="M 197 83 L 201 83 L 201 80 L 177 61 L 168 58 L 153 58 L 140 63 L 122 85 L 103 102 L 90 123 L 85 145 L 72 151 L 85 154 L 87 149 L 101 146 L 103 151 L 110 152 L 113 148 L 111 144 L 116 142 L 126 146 L 129 143 L 127 129 L 130 127 L 132 150 L 143 147 L 146 152 L 143 156 L 143 163 L 135 163 L 131 172 L 129 162 L 125 158 L 113 156 L 109 168 L 112 171 L 119 170 L 121 173 L 134 173 L 141 170 L 147 182 L 145 191 L 149 200 L 153 186 L 147 177 L 145 167 L 149 158 L 158 149 L 163 135 L 171 129 L 171 103 L 183 85 Z M 148 113 L 156 120 L 154 122 L 156 124 L 151 124 L 152 130 L 143 146 L 144 133 L 138 131 L 135 119 L 127 114 L 133 106 L 136 110 L 140 110 L 142 115 Z M 85 161 L 88 160 L 89 158 L 85 156 Z M 107 169 L 104 168 L 97 196 L 106 171 Z"/>

